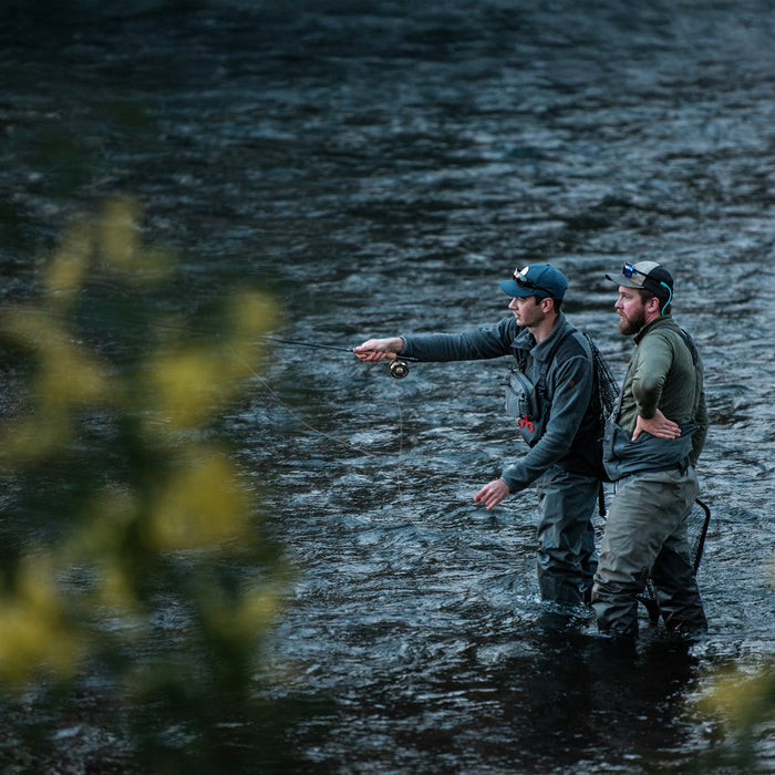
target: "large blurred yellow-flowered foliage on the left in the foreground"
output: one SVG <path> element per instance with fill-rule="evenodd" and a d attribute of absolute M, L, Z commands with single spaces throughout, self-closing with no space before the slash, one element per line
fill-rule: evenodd
<path fill-rule="evenodd" d="M 198 320 L 137 215 L 113 200 L 75 224 L 40 294 L 0 318 L 19 375 L 0 426 L 11 767 L 55 756 L 84 706 L 141 772 L 235 772 L 257 745 L 271 760 L 255 676 L 286 571 L 216 421 L 275 310 L 240 290 Z"/>

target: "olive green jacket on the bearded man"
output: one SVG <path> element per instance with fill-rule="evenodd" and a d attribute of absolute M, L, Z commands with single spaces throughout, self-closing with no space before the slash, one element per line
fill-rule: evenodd
<path fill-rule="evenodd" d="M 624 380 L 619 425 L 632 434 L 638 415 L 644 420 L 657 410 L 679 425 L 696 424 L 691 461 L 696 463 L 707 435 L 707 409 L 702 360 L 679 333 L 670 314 L 653 320 L 634 335 L 636 351 Z"/>

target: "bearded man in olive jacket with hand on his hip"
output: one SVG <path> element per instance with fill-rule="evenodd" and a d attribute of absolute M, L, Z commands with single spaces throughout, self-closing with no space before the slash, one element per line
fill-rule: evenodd
<path fill-rule="evenodd" d="M 666 627 L 704 631 L 686 538 L 707 433 L 702 361 L 670 314 L 673 278 L 664 267 L 626 264 L 606 277 L 619 286 L 619 332 L 633 337 L 636 351 L 603 445 L 617 493 L 592 589 L 598 629 L 636 638 L 637 596 L 650 577 Z"/>

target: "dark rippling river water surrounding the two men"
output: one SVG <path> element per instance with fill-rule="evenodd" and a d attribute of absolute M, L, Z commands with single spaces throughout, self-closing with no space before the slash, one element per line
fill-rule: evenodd
<path fill-rule="evenodd" d="M 495 323 L 496 282 L 550 261 L 619 378 L 631 343 L 603 276 L 657 259 L 705 363 L 710 633 L 676 644 L 644 621 L 619 662 L 592 621 L 540 616 L 535 493 L 473 503 L 524 452 L 505 362 L 399 381 L 275 349 L 228 426 L 298 568 L 272 696 L 314 700 L 285 742 L 300 771 L 688 767 L 716 735 L 692 712 L 710 671 L 775 655 L 775 3 L 157 6 L 43 22 L 20 4 L 0 30 L 0 194 L 38 225 L 28 245 L 130 192 L 192 299 L 241 276 L 281 303 L 277 335 L 343 347 Z M 120 108 L 142 108 L 136 134 Z M 79 202 L 43 193 L 39 132 L 95 164 Z M 25 254 L 0 254 L 9 298 Z"/>

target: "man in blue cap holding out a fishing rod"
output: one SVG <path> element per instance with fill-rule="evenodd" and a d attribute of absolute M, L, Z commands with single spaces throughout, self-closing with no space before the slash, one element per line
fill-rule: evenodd
<path fill-rule="evenodd" d="M 513 314 L 467 333 L 370 339 L 354 349 L 363 361 L 402 354 L 418 361 L 512 355 L 506 410 L 529 450 L 474 499 L 488 509 L 530 484 L 538 490 L 538 582 L 545 601 L 589 602 L 597 567 L 591 524 L 600 484 L 592 448 L 601 433 L 592 401 L 592 354 L 560 308 L 562 272 L 534 264 L 499 283 Z"/>

